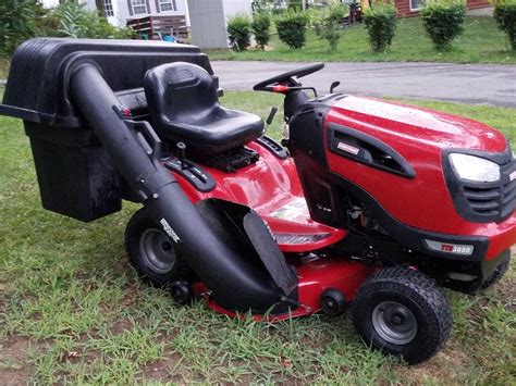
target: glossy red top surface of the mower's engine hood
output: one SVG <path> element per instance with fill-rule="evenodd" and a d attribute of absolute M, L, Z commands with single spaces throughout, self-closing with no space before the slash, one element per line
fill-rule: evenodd
<path fill-rule="evenodd" d="M 432 110 L 358 97 L 343 98 L 333 109 L 360 125 L 367 123 L 376 130 L 396 133 L 404 139 L 410 138 L 439 148 L 497 152 L 507 147 L 500 132 L 480 122 Z"/>

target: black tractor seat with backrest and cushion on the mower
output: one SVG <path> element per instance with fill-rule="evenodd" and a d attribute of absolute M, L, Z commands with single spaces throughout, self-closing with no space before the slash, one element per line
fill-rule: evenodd
<path fill-rule="evenodd" d="M 210 74 L 195 64 L 175 62 L 149 70 L 145 94 L 158 135 L 183 141 L 197 154 L 220 154 L 263 133 L 259 116 L 222 108 Z"/>

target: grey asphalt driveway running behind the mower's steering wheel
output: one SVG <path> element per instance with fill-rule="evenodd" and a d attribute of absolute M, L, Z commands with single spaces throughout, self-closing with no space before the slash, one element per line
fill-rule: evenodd
<path fill-rule="evenodd" d="M 250 90 L 260 80 L 304 64 L 211 62 L 221 87 L 226 90 Z M 303 78 L 303 84 L 328 92 L 333 80 L 341 82 L 337 90 L 345 94 L 516 108 L 516 65 L 327 63 L 322 71 Z"/>

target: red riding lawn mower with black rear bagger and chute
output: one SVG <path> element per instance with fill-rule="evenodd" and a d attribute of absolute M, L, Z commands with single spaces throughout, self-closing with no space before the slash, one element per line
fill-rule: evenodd
<path fill-rule="evenodd" d="M 94 221 L 143 203 L 130 260 L 177 303 L 268 321 L 352 306 L 366 345 L 425 361 L 452 326 L 439 286 L 475 292 L 508 267 L 513 152 L 470 120 L 311 98 L 299 78 L 322 67 L 255 86 L 284 95 L 281 145 L 220 105 L 208 58 L 183 45 L 28 40 L 0 113 L 24 120 L 46 209 Z"/>

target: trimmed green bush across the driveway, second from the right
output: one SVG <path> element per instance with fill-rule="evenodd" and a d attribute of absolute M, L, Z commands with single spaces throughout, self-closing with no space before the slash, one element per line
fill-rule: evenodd
<path fill-rule="evenodd" d="M 464 32 L 466 4 L 460 0 L 429 0 L 421 11 L 422 25 L 437 50 L 443 50 Z"/>

